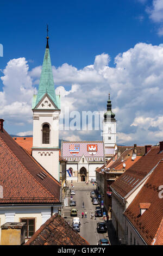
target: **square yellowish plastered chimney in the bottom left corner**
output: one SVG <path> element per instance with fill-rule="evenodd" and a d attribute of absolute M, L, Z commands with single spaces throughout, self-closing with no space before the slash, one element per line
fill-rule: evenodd
<path fill-rule="evenodd" d="M 6 222 L 1 225 L 1 245 L 22 245 L 25 236 L 25 222 Z"/>

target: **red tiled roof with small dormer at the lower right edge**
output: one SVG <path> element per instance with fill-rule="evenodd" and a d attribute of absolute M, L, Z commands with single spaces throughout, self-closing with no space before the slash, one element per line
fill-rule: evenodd
<path fill-rule="evenodd" d="M 145 162 L 145 167 L 146 164 Z M 163 185 L 163 160 L 159 162 L 124 212 L 147 245 L 152 243 L 163 245 L 163 199 L 159 197 L 160 185 Z M 142 215 L 140 215 L 140 205 L 141 207 L 146 206 L 147 209 Z"/>

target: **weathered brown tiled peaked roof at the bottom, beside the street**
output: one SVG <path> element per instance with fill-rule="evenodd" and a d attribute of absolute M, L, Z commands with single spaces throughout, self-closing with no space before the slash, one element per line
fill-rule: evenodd
<path fill-rule="evenodd" d="M 90 245 L 58 214 L 53 215 L 24 245 Z"/>

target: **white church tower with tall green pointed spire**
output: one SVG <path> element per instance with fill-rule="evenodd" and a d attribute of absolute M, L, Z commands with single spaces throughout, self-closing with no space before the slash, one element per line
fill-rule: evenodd
<path fill-rule="evenodd" d="M 48 39 L 47 35 L 39 90 L 33 96 L 32 156 L 59 181 L 60 96 L 55 95 Z"/>

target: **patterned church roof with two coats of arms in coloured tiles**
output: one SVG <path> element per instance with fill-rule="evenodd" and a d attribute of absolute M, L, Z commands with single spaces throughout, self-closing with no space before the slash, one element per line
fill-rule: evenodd
<path fill-rule="evenodd" d="M 87 160 L 93 161 L 97 157 L 104 158 L 104 144 L 102 141 L 76 141 L 62 142 L 61 156 L 66 160 L 85 156 Z M 91 160 L 93 159 L 93 160 Z M 98 161 L 98 160 L 97 160 Z"/>

